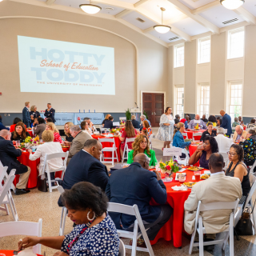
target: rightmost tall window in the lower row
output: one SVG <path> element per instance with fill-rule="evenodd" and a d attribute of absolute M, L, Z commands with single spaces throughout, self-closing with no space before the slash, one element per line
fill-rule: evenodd
<path fill-rule="evenodd" d="M 242 82 L 230 82 L 230 117 L 242 116 Z"/>

